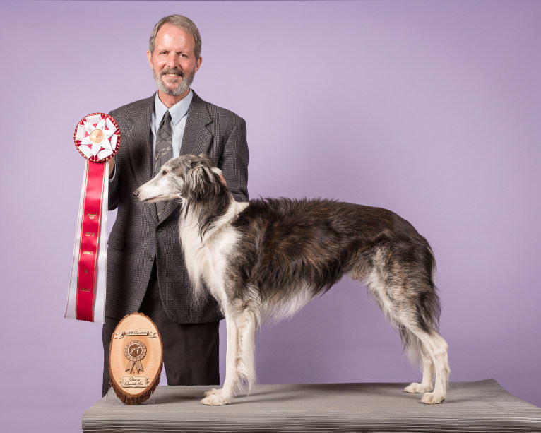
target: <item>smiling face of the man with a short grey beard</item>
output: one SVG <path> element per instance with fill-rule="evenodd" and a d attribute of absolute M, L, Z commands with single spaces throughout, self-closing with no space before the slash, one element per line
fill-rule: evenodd
<path fill-rule="evenodd" d="M 167 95 L 188 92 L 201 57 L 194 54 L 196 42 L 190 32 L 165 23 L 157 32 L 154 52 L 147 52 L 157 88 Z"/>

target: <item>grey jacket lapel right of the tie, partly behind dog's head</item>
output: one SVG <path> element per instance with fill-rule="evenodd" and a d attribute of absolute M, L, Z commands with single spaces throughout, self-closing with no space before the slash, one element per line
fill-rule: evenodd
<path fill-rule="evenodd" d="M 213 133 L 206 126 L 212 123 L 212 121 L 213 119 L 208 114 L 205 102 L 194 92 L 194 97 L 191 100 L 188 110 L 186 126 L 184 127 L 180 155 L 198 155 L 199 153 L 208 152 L 208 148 L 213 141 Z M 165 206 L 162 212 L 160 223 L 178 208 L 179 203 L 179 200 L 171 200 L 167 203 L 167 206 Z"/>

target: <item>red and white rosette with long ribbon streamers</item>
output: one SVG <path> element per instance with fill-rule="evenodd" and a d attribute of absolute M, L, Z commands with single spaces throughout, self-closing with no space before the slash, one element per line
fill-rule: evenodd
<path fill-rule="evenodd" d="M 105 323 L 108 161 L 119 150 L 120 129 L 108 114 L 88 114 L 73 139 L 86 165 L 64 317 Z"/>

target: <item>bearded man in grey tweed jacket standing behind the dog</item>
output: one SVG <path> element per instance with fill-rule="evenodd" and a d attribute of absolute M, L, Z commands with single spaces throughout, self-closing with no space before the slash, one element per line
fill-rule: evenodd
<path fill-rule="evenodd" d="M 141 203 L 133 196 L 168 159 L 207 153 L 237 201 L 247 201 L 246 122 L 201 100 L 191 81 L 201 67 L 201 36 L 184 16 L 162 18 L 150 35 L 148 62 L 157 93 L 111 112 L 121 148 L 109 172 L 109 210 L 118 208 L 107 249 L 102 395 L 109 389 L 109 342 L 119 319 L 150 316 L 162 336 L 170 385 L 219 384 L 218 324 L 210 296 L 194 304 L 177 220 L 179 201 Z"/>

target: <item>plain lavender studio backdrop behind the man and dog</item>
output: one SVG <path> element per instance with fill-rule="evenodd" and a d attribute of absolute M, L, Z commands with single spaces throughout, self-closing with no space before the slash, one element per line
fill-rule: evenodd
<path fill-rule="evenodd" d="M 73 432 L 100 396 L 101 328 L 62 318 L 83 174 L 71 136 L 153 93 L 145 50 L 169 13 L 203 35 L 194 88 L 247 121 L 250 195 L 410 220 L 439 263 L 451 380 L 493 377 L 541 405 L 539 1 L 2 2 L 2 428 Z M 350 280 L 263 328 L 257 370 L 420 378 Z"/>

